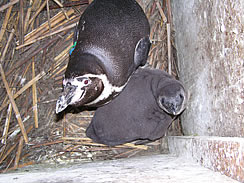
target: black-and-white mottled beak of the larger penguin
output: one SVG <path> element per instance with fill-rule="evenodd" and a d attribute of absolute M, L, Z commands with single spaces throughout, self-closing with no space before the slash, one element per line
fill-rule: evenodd
<path fill-rule="evenodd" d="M 58 98 L 56 103 L 56 114 L 62 112 L 68 105 L 74 104 L 77 98 L 81 98 L 85 90 L 77 92 L 77 86 L 69 85 L 64 88 L 62 95 Z M 77 94 L 78 93 L 78 94 Z"/>

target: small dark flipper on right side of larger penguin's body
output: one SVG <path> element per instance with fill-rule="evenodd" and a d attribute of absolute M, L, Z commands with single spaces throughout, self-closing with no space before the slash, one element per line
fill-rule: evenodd
<path fill-rule="evenodd" d="M 134 54 L 134 62 L 136 67 L 144 66 L 147 62 L 148 53 L 151 47 L 149 36 L 138 41 Z"/>

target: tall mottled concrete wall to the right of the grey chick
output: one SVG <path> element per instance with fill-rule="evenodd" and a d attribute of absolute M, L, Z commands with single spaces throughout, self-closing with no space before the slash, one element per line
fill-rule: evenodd
<path fill-rule="evenodd" d="M 244 1 L 171 3 L 185 135 L 244 136 Z"/>

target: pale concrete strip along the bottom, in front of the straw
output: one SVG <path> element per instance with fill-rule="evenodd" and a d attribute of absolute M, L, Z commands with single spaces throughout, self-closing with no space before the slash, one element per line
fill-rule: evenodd
<path fill-rule="evenodd" d="M 30 172 L 2 174 L 1 183 L 235 183 L 185 158 L 153 155 L 101 161 L 51 169 L 32 168 Z"/>

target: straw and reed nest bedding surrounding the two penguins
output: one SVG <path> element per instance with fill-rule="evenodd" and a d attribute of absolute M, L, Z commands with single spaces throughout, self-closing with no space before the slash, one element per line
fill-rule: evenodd
<path fill-rule="evenodd" d="M 177 77 L 170 2 L 138 0 L 151 25 L 148 64 Z M 94 111 L 57 119 L 55 104 L 73 45 L 73 28 L 88 0 L 4 0 L 0 4 L 0 171 L 39 162 L 63 164 L 159 153 L 147 145 L 108 147 L 85 135 Z M 181 135 L 176 120 L 169 132 Z"/>

